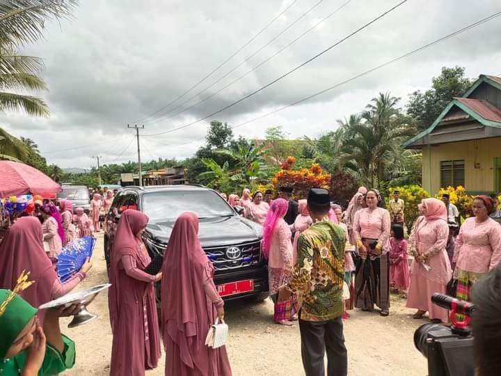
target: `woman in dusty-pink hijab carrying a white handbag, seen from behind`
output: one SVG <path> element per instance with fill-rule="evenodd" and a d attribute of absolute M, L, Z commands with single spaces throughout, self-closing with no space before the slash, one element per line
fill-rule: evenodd
<path fill-rule="evenodd" d="M 214 285 L 214 267 L 198 240 L 197 214 L 186 212 L 177 219 L 162 271 L 165 375 L 231 375 L 226 348 L 205 345 L 209 327 L 224 318 L 224 303 Z"/>

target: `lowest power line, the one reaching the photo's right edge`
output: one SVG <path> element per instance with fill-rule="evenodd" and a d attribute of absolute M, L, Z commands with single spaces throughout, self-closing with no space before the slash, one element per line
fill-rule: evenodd
<path fill-rule="evenodd" d="M 256 120 L 260 120 L 262 118 L 266 118 L 267 116 L 270 116 L 270 115 L 273 115 L 273 113 L 277 113 L 279 111 L 283 111 L 285 109 L 288 109 L 289 107 L 293 107 L 293 106 L 296 106 L 296 104 L 300 104 L 302 102 L 305 102 L 307 100 L 310 100 L 314 97 L 317 97 L 318 95 L 321 95 L 321 94 L 324 94 L 324 93 L 327 93 L 328 91 L 332 91 L 333 89 L 335 88 L 338 88 L 344 84 L 348 84 L 349 82 L 351 81 L 354 81 L 360 77 L 363 77 L 363 76 L 366 76 L 366 75 L 369 75 L 370 73 L 376 71 L 376 70 L 379 70 L 383 67 L 385 67 L 386 65 L 390 65 L 392 63 L 395 63 L 403 58 L 407 58 L 408 56 L 411 56 L 411 55 L 414 55 L 414 54 L 417 54 L 417 52 L 421 52 L 423 49 L 427 49 L 429 47 L 432 47 L 440 42 L 443 42 L 444 40 L 447 40 L 447 39 L 450 39 L 450 38 L 453 38 L 454 36 L 457 36 L 461 33 L 464 33 L 470 29 L 473 29 L 477 26 L 480 26 L 488 21 L 491 21 L 492 19 L 495 19 L 496 17 L 499 17 L 501 15 L 501 11 L 500 12 L 497 12 L 497 13 L 493 13 L 493 15 L 490 15 L 488 17 L 485 17 L 483 19 L 480 19 L 479 21 L 477 22 L 474 22 L 472 24 L 469 24 L 468 26 L 465 26 L 463 27 L 462 29 L 459 29 L 459 30 L 456 30 L 450 34 L 447 34 L 446 36 L 443 36 L 441 38 L 438 38 L 437 40 L 434 40 L 433 42 L 429 42 L 427 45 L 424 45 L 422 47 L 418 47 L 416 49 L 413 49 L 411 52 L 407 52 L 406 54 L 403 54 L 401 56 L 398 56 L 397 58 L 393 58 L 392 60 L 390 61 L 386 61 L 385 63 L 382 63 L 380 65 L 376 65 L 376 67 L 374 68 L 371 68 L 369 70 L 365 70 L 365 72 L 362 72 L 356 76 L 353 76 L 349 79 L 346 79 L 344 81 L 341 81 L 333 86 L 329 86 L 328 88 L 325 88 L 324 90 L 321 90 L 321 91 L 317 91 L 316 93 L 313 93 L 312 95 L 308 95 L 308 97 L 303 97 L 301 100 L 297 100 L 296 102 L 292 102 L 290 104 L 287 104 L 286 106 L 284 107 L 280 107 L 279 109 L 275 109 L 273 111 L 270 111 L 268 113 L 265 113 L 264 115 L 261 115 L 261 116 L 257 116 L 257 118 L 253 118 L 253 119 L 250 119 L 250 120 L 247 120 L 245 121 L 244 123 L 239 123 L 237 125 L 234 125 L 232 127 L 232 130 L 235 129 L 235 128 L 238 128 L 238 127 L 242 127 L 244 125 L 247 125 L 249 123 L 253 123 L 255 122 Z M 179 144 L 166 144 L 166 143 L 162 143 L 162 145 L 164 146 L 170 146 L 171 148 L 175 148 L 175 147 L 178 147 L 178 146 L 184 146 L 184 145 L 188 145 L 189 143 L 193 143 L 193 142 L 196 142 L 196 141 L 202 141 L 203 139 L 205 139 L 205 137 L 201 137 L 199 139 L 194 139 L 194 140 L 191 140 L 191 141 L 187 141 L 185 143 L 179 143 Z"/>

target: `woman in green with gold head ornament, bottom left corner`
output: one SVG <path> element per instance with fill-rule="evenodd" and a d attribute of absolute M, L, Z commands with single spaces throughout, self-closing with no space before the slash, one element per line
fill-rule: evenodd
<path fill-rule="evenodd" d="M 72 368 L 74 342 L 61 334 L 59 318 L 74 315 L 79 305 L 47 310 L 42 328 L 38 310 L 17 295 L 19 288 L 14 291 L 0 289 L 0 375 L 55 375 Z"/>

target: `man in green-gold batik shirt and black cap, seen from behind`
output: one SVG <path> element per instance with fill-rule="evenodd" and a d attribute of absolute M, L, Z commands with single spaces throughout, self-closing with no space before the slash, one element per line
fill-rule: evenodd
<path fill-rule="evenodd" d="M 299 329 L 307 376 L 325 374 L 326 352 L 328 375 L 347 375 L 341 318 L 346 235 L 342 228 L 328 220 L 329 209 L 328 191 L 310 189 L 308 210 L 314 224 L 301 233 L 292 278 L 278 293 L 279 301 L 289 299 L 292 293 L 302 301 Z"/>

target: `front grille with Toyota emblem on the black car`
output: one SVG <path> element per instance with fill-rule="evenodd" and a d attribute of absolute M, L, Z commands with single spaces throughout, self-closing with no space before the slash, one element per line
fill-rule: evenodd
<path fill-rule="evenodd" d="M 227 250 L 237 247 L 240 255 L 237 258 L 229 258 Z M 204 248 L 207 257 L 212 261 L 214 269 L 218 271 L 241 269 L 258 265 L 262 262 L 260 242 L 235 244 L 232 246 L 216 246 Z"/>

